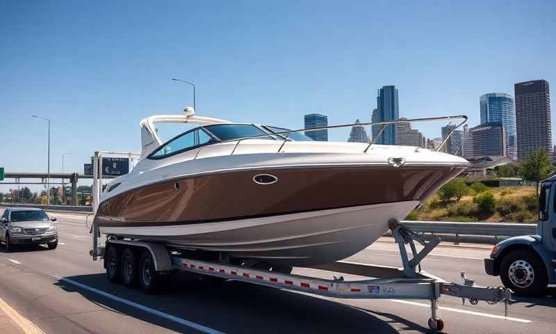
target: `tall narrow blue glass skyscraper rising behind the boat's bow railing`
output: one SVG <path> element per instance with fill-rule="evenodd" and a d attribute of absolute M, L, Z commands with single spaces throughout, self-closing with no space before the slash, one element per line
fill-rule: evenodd
<path fill-rule="evenodd" d="M 400 109 L 398 106 L 398 89 L 396 89 L 395 86 L 384 86 L 378 90 L 377 116 L 378 122 L 384 122 L 386 120 L 397 120 L 400 117 Z M 375 136 L 374 129 L 373 136 Z M 375 143 L 394 145 L 395 126 L 387 126 Z"/>

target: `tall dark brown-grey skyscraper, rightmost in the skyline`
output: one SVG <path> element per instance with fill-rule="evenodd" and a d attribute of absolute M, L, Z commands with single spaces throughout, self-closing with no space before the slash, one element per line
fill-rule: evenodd
<path fill-rule="evenodd" d="M 514 85 L 516 96 L 517 157 L 525 159 L 537 149 L 552 154 L 550 88 L 546 80 Z"/>

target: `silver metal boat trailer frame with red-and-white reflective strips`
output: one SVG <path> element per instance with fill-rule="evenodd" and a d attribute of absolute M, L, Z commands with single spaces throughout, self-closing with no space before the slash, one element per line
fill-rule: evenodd
<path fill-rule="evenodd" d="M 323 264 L 310 267 L 334 273 L 343 273 L 355 276 L 364 276 L 363 280 L 348 281 L 340 278 L 323 279 L 309 276 L 294 275 L 291 273 L 279 273 L 254 269 L 245 265 L 232 265 L 227 261 L 205 261 L 193 260 L 181 256 L 176 251 L 168 250 L 163 244 L 144 242 L 140 240 L 108 238 L 106 246 L 97 247 L 97 252 L 91 250 L 93 257 L 104 258 L 104 250 L 112 245 L 122 250 L 126 248 L 142 250 L 143 253 L 150 253 L 154 262 L 155 275 L 167 276 L 175 270 L 189 271 L 206 276 L 215 276 L 229 280 L 238 280 L 245 283 L 254 283 L 267 287 L 277 287 L 298 292 L 306 292 L 318 296 L 342 298 L 342 299 L 427 299 L 431 304 L 431 317 L 428 325 L 432 330 L 442 331 L 444 322 L 437 314 L 437 303 L 441 295 L 456 296 L 472 305 L 478 301 L 486 301 L 489 304 L 503 303 L 505 307 L 505 317 L 509 312 L 509 301 L 512 298 L 512 291 L 504 287 L 482 287 L 475 285 L 473 280 L 464 277 L 464 283 L 451 283 L 436 276 L 426 273 L 420 269 L 420 262 L 427 254 L 440 243 L 439 237 L 432 237 L 425 240 L 423 236 L 417 234 L 395 220 L 389 221 L 389 228 L 395 238 L 395 242 L 400 248 L 403 268 L 384 267 L 371 264 L 361 264 L 354 262 L 338 261 L 331 264 Z M 93 244 L 98 243 L 99 231 L 95 224 L 91 228 Z M 423 245 L 418 251 L 415 241 Z M 411 259 L 409 259 L 406 245 L 411 249 Z M 94 248 L 95 249 L 95 248 Z M 143 257 L 142 257 L 143 258 Z M 107 269 L 110 264 L 104 260 L 104 267 Z M 145 265 L 138 264 L 137 270 L 139 280 L 149 276 L 151 280 L 153 273 L 146 272 Z M 148 266 L 147 266 L 148 267 Z M 160 280 L 158 280 L 160 282 Z M 144 287 L 145 289 L 145 287 Z"/>

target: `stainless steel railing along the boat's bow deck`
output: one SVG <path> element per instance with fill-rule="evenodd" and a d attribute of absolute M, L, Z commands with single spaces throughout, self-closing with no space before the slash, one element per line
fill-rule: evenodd
<path fill-rule="evenodd" d="M 441 150 L 443 148 L 443 146 L 448 141 L 448 139 L 450 139 L 452 134 L 454 134 L 454 132 L 459 127 L 461 127 L 461 125 L 464 125 L 467 122 L 467 120 L 468 120 L 467 116 L 457 115 L 457 116 L 443 116 L 443 117 L 430 117 L 430 118 L 413 118 L 413 119 L 404 119 L 404 120 L 388 120 L 388 121 L 385 121 L 385 122 L 366 122 L 366 123 L 352 123 L 352 124 L 343 124 L 343 125 L 329 125 L 329 126 L 326 126 L 326 127 L 308 127 L 308 128 L 304 128 L 304 129 L 289 130 L 289 131 L 284 131 L 284 132 L 274 132 L 272 134 L 261 134 L 261 135 L 258 135 L 258 136 L 234 138 L 234 139 L 229 139 L 227 141 L 219 141 L 218 143 L 229 143 L 229 142 L 237 141 L 236 145 L 234 145 L 234 149 L 231 150 L 231 153 L 230 153 L 230 155 L 233 155 L 234 152 L 236 152 L 236 149 L 238 148 L 238 145 L 242 141 L 245 141 L 246 139 L 256 139 L 256 138 L 264 138 L 264 137 L 278 135 L 278 136 L 281 136 L 281 137 L 284 138 L 284 141 L 282 141 L 280 147 L 278 148 L 278 152 L 280 152 L 282 150 L 282 148 L 284 148 L 284 145 L 286 145 L 286 142 L 290 141 L 289 135 L 293 134 L 294 132 L 311 132 L 311 131 L 325 130 L 325 129 L 338 129 L 338 128 L 341 128 L 341 127 L 382 125 L 382 128 L 380 129 L 377 136 L 375 136 L 375 138 L 372 138 L 372 140 L 369 142 L 369 144 L 367 145 L 365 150 L 363 150 L 363 153 L 366 153 L 368 151 L 368 149 L 377 141 L 377 138 L 379 138 L 379 136 L 382 135 L 382 133 L 384 132 L 384 129 L 386 129 L 386 127 L 388 127 L 389 125 L 400 124 L 400 123 L 411 123 L 411 122 L 435 122 L 435 121 L 439 121 L 439 120 L 450 120 L 450 123 L 451 123 L 452 120 L 457 120 L 457 119 L 463 119 L 463 120 L 461 122 L 459 122 L 457 125 L 455 125 L 455 127 L 452 129 L 452 131 L 450 131 L 450 134 L 448 134 L 448 136 L 446 136 L 446 138 L 444 138 L 444 140 L 439 145 L 439 147 L 436 148 L 436 151 L 438 152 L 439 150 Z M 448 125 L 450 123 L 448 123 Z M 286 135 L 286 136 L 284 136 L 284 135 Z M 201 150 L 205 147 L 206 146 L 204 146 L 202 148 L 199 148 L 199 150 L 197 151 L 197 154 L 195 154 L 194 159 L 197 159 L 197 157 L 199 156 L 199 152 L 201 152 Z"/>

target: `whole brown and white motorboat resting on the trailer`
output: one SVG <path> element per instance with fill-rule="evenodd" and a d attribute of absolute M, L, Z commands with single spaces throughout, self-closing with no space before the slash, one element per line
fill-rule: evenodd
<path fill-rule="evenodd" d="M 197 127 L 163 143 L 157 122 Z M 382 130 L 395 122 L 380 123 Z M 191 108 L 150 116 L 140 127 L 140 160 L 102 193 L 99 232 L 276 267 L 358 253 L 469 165 L 436 150 L 312 141 L 306 129 L 197 116 Z"/>

